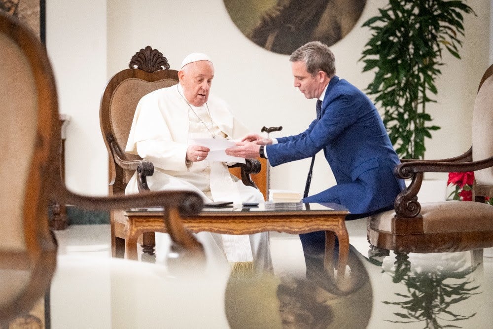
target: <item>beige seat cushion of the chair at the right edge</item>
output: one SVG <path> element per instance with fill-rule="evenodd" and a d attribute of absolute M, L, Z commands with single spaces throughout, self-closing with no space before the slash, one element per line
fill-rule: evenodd
<path fill-rule="evenodd" d="M 466 232 L 493 230 L 493 206 L 473 201 L 429 202 L 421 205 L 424 233 Z M 464 214 L 465 220 L 450 222 Z M 466 216 L 467 214 L 467 216 Z M 395 211 L 389 210 L 371 217 L 372 227 L 391 232 Z M 401 219 L 405 220 L 405 219 Z"/>

